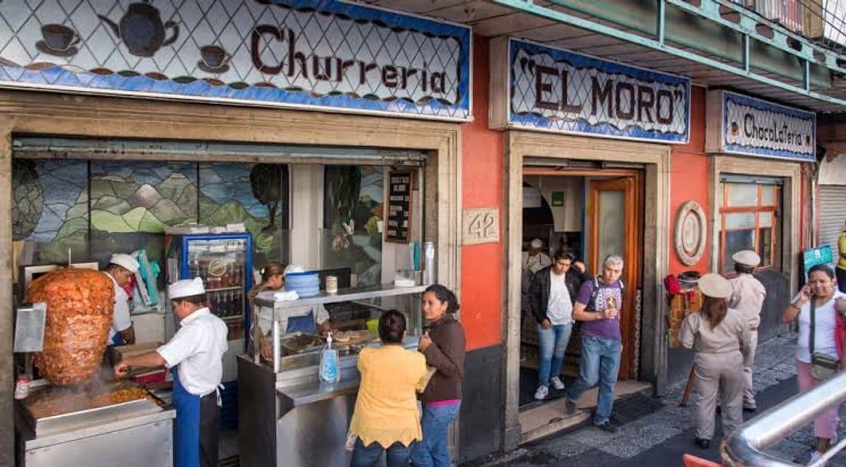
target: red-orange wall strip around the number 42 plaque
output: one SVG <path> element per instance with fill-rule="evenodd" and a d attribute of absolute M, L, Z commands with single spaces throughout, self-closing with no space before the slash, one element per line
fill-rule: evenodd
<path fill-rule="evenodd" d="M 465 208 L 499 208 L 503 225 L 503 133 L 487 127 L 487 41 L 473 37 L 473 115 L 461 128 L 462 190 Z M 503 239 L 503 230 L 499 237 Z M 461 249 L 461 322 L 467 349 L 502 340 L 503 245 L 473 244 Z"/>

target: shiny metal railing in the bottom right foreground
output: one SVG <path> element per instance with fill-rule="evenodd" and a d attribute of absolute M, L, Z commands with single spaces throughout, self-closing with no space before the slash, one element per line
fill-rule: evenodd
<path fill-rule="evenodd" d="M 794 464 L 765 453 L 767 448 L 810 423 L 825 409 L 846 401 L 846 372 L 838 373 L 807 393 L 799 393 L 763 414 L 744 423 L 720 448 L 722 464 L 729 466 L 788 467 Z M 846 448 L 846 439 L 832 446 L 821 459 L 810 464 L 818 467 Z"/>

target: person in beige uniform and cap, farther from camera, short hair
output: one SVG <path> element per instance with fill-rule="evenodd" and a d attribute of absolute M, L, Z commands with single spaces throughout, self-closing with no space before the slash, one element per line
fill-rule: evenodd
<path fill-rule="evenodd" d="M 729 279 L 732 284 L 732 295 L 728 299 L 728 307 L 740 311 L 746 317 L 749 326 L 749 354 L 743 362 L 744 390 L 743 409 L 755 412 L 755 393 L 752 391 L 752 366 L 755 364 L 755 348 L 758 347 L 758 326 L 761 324 L 761 306 L 766 299 L 764 284 L 752 276 L 755 267 L 761 264 L 761 256 L 755 251 L 738 251 L 732 256 L 734 271 L 737 276 Z"/>

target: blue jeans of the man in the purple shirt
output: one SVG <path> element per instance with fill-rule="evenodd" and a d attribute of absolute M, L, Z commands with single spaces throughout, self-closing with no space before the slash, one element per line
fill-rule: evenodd
<path fill-rule="evenodd" d="M 623 343 L 617 339 L 582 336 L 579 380 L 567 388 L 567 398 L 578 400 L 582 393 L 599 382 L 596 416 L 593 419 L 597 425 L 605 423 L 611 417 L 611 410 L 614 407 L 614 386 L 617 385 L 622 350 Z"/>

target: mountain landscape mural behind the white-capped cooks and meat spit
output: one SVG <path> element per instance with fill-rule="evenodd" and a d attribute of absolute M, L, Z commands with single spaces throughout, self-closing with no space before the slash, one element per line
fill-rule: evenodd
<path fill-rule="evenodd" d="M 255 198 L 252 167 L 15 160 L 14 240 L 32 244 L 31 258 L 22 257 L 21 264 L 67 261 L 68 249 L 74 261 L 101 263 L 115 251 L 145 249 L 161 264 L 164 229 L 198 221 L 211 226 L 244 223 L 256 239 L 256 260 L 261 261 L 261 256 L 270 257 L 281 248 L 282 223 L 271 226 L 268 210 L 287 206 L 266 206 Z"/>

